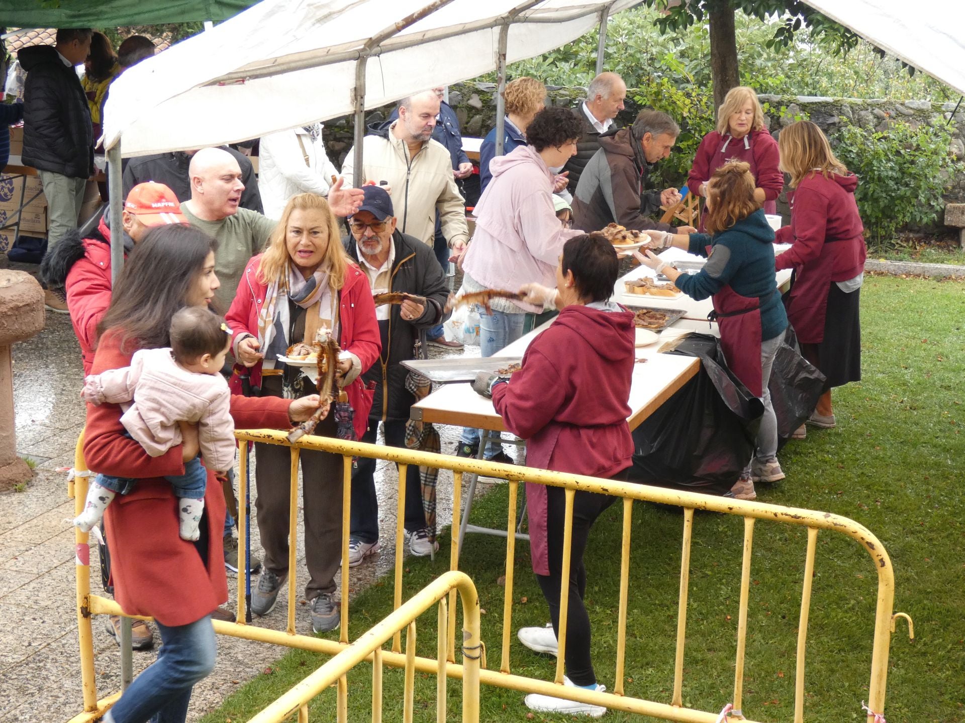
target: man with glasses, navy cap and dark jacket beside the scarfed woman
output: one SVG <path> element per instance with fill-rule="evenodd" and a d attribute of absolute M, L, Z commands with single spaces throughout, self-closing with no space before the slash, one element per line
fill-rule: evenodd
<path fill-rule="evenodd" d="M 363 375 L 374 385 L 369 431 L 362 442 L 374 443 L 382 422 L 385 443 L 405 446 L 405 422 L 415 402 L 406 388 L 408 370 L 400 362 L 415 359 L 416 344 L 425 343 L 426 330 L 444 321 L 449 287 L 432 248 L 402 233 L 384 188 L 365 186 L 365 199 L 349 220 L 348 254 L 358 262 L 372 286 L 372 294 L 401 292 L 414 299 L 375 307 L 382 336 L 378 362 Z M 378 552 L 378 498 L 375 494 L 375 460 L 359 458 L 352 475 L 351 524 L 348 565 L 356 567 Z M 439 544 L 432 542 L 423 509 L 419 467 L 409 465 L 405 479 L 405 538 L 409 551 L 426 556 Z"/>

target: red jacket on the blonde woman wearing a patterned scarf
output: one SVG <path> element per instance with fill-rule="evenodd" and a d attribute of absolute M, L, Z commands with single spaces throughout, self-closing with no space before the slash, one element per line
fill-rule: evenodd
<path fill-rule="evenodd" d="M 240 334 L 258 336 L 258 314 L 264 304 L 265 292 L 268 285 L 258 280 L 258 269 L 262 264 L 262 254 L 254 256 L 245 267 L 244 276 L 238 283 L 237 295 L 228 310 L 225 320 L 232 328 L 233 341 Z M 369 426 L 369 412 L 372 410 L 372 389 L 367 389 L 362 381 L 362 374 L 378 359 L 382 350 L 381 336 L 378 332 L 378 321 L 375 319 L 375 305 L 372 303 L 372 289 L 369 280 L 359 267 L 349 263 L 345 270 L 345 285 L 339 294 L 341 309 L 339 311 L 339 346 L 349 351 L 362 362 L 362 371 L 355 380 L 345 388 L 348 403 L 355 412 L 355 433 L 361 440 Z M 234 374 L 229 382 L 232 392 L 241 392 L 241 380 L 238 372 L 245 367 L 234 365 Z M 262 386 L 262 362 L 258 362 L 248 369 L 252 387 Z"/>

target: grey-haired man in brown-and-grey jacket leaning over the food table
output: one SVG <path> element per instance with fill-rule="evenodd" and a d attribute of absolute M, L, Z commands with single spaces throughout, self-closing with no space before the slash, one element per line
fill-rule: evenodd
<path fill-rule="evenodd" d="M 676 188 L 647 190 L 650 167 L 670 155 L 679 134 L 680 127 L 666 113 L 644 110 L 630 127 L 602 136 L 573 195 L 573 226 L 592 231 L 617 223 L 637 230 L 694 232 L 650 218 L 661 205 L 680 200 Z"/>

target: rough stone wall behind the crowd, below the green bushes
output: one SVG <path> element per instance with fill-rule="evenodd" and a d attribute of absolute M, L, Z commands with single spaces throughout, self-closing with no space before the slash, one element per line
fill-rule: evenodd
<path fill-rule="evenodd" d="M 549 86 L 547 103 L 557 106 L 574 106 L 586 96 L 583 88 L 558 88 Z M 465 136 L 483 137 L 496 123 L 496 86 L 492 83 L 457 83 L 449 89 L 450 104 L 455 108 Z M 633 97 L 633 91 L 628 97 Z M 955 110 L 955 103 L 938 103 L 928 100 L 863 100 L 857 98 L 828 98 L 808 95 L 760 95 L 760 102 L 766 104 L 768 128 L 775 136 L 780 129 L 791 122 L 795 116 L 813 120 L 825 132 L 833 131 L 847 119 L 862 127 L 885 130 L 896 119 L 906 120 L 912 125 L 948 124 L 951 120 L 951 151 L 958 158 L 965 158 L 965 103 Z M 782 112 L 784 109 L 784 112 Z M 620 122 L 632 122 L 639 108 L 629 99 L 625 110 L 620 113 Z M 392 106 L 379 108 L 368 116 L 368 122 L 379 122 L 388 118 Z M 952 113 L 954 114 L 952 118 Z M 341 118 L 325 124 L 326 145 L 329 157 L 336 165 L 345 159 L 352 147 L 352 121 Z M 965 202 L 965 174 L 958 174 L 953 181 L 946 201 Z"/>

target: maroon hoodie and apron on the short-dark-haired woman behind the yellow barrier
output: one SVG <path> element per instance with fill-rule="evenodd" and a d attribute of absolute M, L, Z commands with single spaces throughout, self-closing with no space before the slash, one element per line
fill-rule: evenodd
<path fill-rule="evenodd" d="M 538 335 L 509 384 L 493 388 L 506 428 L 526 443 L 530 467 L 611 477 L 630 466 L 636 332 L 626 310 L 569 306 Z M 533 570 L 549 575 L 546 488 L 527 484 Z"/>

